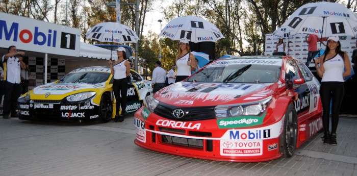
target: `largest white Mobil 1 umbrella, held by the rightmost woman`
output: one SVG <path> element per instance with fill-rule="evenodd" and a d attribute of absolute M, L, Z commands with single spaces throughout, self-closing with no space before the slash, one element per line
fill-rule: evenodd
<path fill-rule="evenodd" d="M 338 3 L 309 3 L 291 14 L 282 27 L 298 34 L 316 34 L 321 37 L 356 36 L 357 15 Z"/>

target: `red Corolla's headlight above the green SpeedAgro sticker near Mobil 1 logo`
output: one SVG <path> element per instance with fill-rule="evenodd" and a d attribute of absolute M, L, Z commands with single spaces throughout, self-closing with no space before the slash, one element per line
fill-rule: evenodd
<path fill-rule="evenodd" d="M 258 102 L 252 102 L 249 104 L 237 104 L 237 105 L 221 105 L 215 108 L 216 118 L 229 118 L 242 115 L 256 115 L 259 116 L 265 112 L 268 107 L 272 96 L 260 100 Z"/>

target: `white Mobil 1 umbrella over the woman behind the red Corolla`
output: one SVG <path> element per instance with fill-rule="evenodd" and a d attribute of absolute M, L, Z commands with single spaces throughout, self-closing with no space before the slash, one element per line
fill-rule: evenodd
<path fill-rule="evenodd" d="M 160 36 L 171 40 L 186 38 L 191 42 L 212 41 L 224 38 L 214 24 L 200 17 L 184 16 L 171 20 L 161 31 Z"/>

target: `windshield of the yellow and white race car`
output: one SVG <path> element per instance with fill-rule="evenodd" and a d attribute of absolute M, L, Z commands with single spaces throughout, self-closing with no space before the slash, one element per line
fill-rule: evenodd
<path fill-rule="evenodd" d="M 61 78 L 58 83 L 87 83 L 97 84 L 108 80 L 108 72 L 72 72 Z"/>

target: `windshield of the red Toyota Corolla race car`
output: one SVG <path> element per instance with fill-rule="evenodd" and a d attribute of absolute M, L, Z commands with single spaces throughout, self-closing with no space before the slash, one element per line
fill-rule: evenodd
<path fill-rule="evenodd" d="M 273 61 L 274 64 L 254 63 L 253 61 L 264 61 L 262 59 L 251 59 L 250 62 L 227 63 L 218 61 L 196 72 L 188 82 L 212 82 L 212 83 L 273 83 L 278 80 L 281 74 L 282 61 Z M 237 62 L 235 61 L 235 62 Z M 269 60 L 265 60 L 269 61 Z M 246 64 L 243 64 L 246 63 Z"/>

